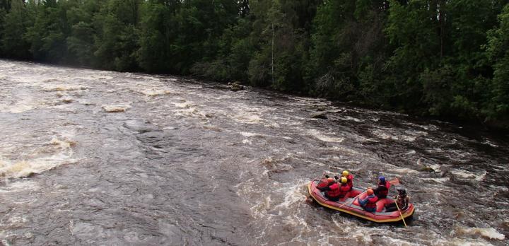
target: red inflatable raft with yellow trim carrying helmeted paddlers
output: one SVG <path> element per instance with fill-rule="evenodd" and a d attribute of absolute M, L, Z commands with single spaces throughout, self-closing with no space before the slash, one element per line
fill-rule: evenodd
<path fill-rule="evenodd" d="M 368 221 L 375 221 L 378 223 L 397 222 L 401 221 L 402 218 L 408 218 L 414 214 L 414 204 L 409 204 L 406 210 L 401 211 L 401 214 L 399 211 L 385 212 L 385 204 L 394 203 L 394 199 L 391 199 L 392 197 L 387 197 L 377 201 L 377 210 L 375 213 L 364 211 L 364 209 L 359 206 L 358 199 L 355 197 L 360 194 L 358 197 L 364 199 L 367 194 L 364 192 L 365 189 L 357 187 L 353 187 L 353 189 L 348 194 L 346 194 L 343 199 L 340 199 L 339 201 L 329 201 L 329 199 L 324 196 L 324 192 L 321 192 L 320 189 L 315 188 L 317 187 L 319 181 L 320 180 L 312 180 L 308 185 L 308 192 L 310 197 L 317 201 L 318 204 L 329 209 L 334 209 L 344 213 L 350 213 L 353 216 L 365 218 Z"/>

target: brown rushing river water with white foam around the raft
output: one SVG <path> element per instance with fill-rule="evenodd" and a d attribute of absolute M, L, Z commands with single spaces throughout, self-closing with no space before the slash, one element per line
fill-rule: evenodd
<path fill-rule="evenodd" d="M 0 83 L 4 245 L 508 242 L 507 136 L 171 76 L 0 61 Z M 305 202 L 343 168 L 399 177 L 411 226 Z"/>

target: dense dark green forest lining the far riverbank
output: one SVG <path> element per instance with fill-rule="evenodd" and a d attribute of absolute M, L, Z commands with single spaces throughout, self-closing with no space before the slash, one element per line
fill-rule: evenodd
<path fill-rule="evenodd" d="M 0 57 L 509 129 L 508 0 L 0 0 Z"/>

